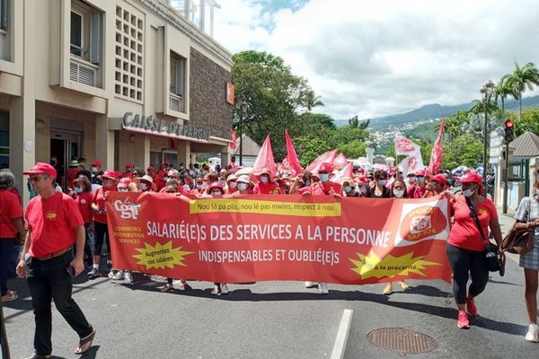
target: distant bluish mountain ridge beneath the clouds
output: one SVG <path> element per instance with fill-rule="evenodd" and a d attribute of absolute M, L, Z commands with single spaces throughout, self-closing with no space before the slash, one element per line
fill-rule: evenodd
<path fill-rule="evenodd" d="M 368 125 L 368 129 L 376 130 L 388 127 L 390 125 L 403 125 L 411 122 L 434 119 L 434 118 L 444 118 L 454 115 L 455 112 L 460 109 L 467 111 L 472 109 L 473 102 L 463 103 L 456 106 L 442 106 L 438 103 L 433 103 L 429 105 L 421 106 L 419 109 L 413 109 L 410 112 L 399 113 L 396 115 L 384 116 L 381 118 L 371 118 Z M 501 106 L 501 104 L 499 105 Z M 522 108 L 526 109 L 529 107 L 538 107 L 539 106 L 539 95 L 533 97 L 526 97 L 522 99 Z M 518 110 L 518 101 L 508 100 L 505 103 L 506 110 Z M 365 119 L 364 119 L 365 120 Z M 337 127 L 343 127 L 348 125 L 348 119 L 336 119 L 333 122 Z"/>

